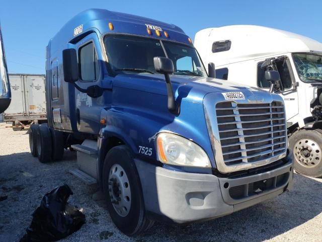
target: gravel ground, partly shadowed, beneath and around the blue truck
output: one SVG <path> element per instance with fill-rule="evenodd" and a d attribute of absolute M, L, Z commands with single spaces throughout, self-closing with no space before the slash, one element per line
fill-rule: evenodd
<path fill-rule="evenodd" d="M 29 153 L 27 131 L 0 124 L 0 241 L 19 241 L 44 194 L 68 184 L 71 205 L 84 209 L 86 224 L 60 241 L 322 241 L 322 179 L 294 174 L 290 193 L 234 214 L 185 226 L 155 223 L 140 236 L 117 230 L 96 186 L 86 186 L 68 173 L 76 153 L 42 164 Z"/>

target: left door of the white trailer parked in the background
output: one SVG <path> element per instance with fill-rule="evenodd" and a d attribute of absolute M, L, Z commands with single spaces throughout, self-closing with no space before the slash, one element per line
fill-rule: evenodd
<path fill-rule="evenodd" d="M 5 116 L 23 116 L 26 113 L 23 77 L 21 75 L 9 75 L 9 81 L 12 100 L 5 111 Z"/>

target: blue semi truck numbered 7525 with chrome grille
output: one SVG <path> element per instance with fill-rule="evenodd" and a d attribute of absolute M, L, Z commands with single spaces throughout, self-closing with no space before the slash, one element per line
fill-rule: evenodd
<path fill-rule="evenodd" d="M 48 43 L 48 125 L 31 127 L 31 153 L 49 162 L 76 150 L 78 175 L 100 185 L 128 235 L 155 220 L 213 219 L 288 191 L 282 98 L 214 79 L 212 64 L 208 72 L 173 24 L 82 12 Z"/>

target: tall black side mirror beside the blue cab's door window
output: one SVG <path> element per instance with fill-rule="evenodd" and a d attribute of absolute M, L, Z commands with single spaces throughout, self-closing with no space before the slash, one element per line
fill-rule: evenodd
<path fill-rule="evenodd" d="M 62 51 L 62 66 L 64 81 L 74 83 L 78 80 L 78 63 L 75 49 L 64 49 Z"/>

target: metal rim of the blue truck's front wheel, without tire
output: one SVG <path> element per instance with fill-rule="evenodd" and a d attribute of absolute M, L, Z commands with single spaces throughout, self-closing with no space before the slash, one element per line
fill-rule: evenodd
<path fill-rule="evenodd" d="M 109 196 L 112 205 L 121 217 L 128 215 L 131 208 L 131 189 L 123 167 L 114 164 L 109 172 Z"/>

